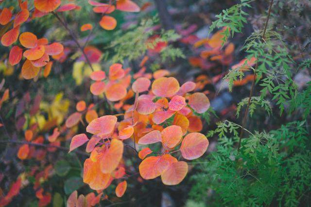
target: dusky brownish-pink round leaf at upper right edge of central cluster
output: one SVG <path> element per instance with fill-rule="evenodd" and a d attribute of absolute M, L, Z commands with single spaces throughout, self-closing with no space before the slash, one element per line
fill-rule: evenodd
<path fill-rule="evenodd" d="M 194 93 L 189 96 L 189 105 L 197 113 L 204 113 L 208 110 L 210 104 L 209 99 L 203 93 Z"/>

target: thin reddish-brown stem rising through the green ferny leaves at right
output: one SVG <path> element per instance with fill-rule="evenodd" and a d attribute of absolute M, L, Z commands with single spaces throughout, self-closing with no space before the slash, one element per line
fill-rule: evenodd
<path fill-rule="evenodd" d="M 265 34 L 267 32 L 267 26 L 268 26 L 270 14 L 271 14 L 272 5 L 273 5 L 273 0 L 270 1 L 270 6 L 269 6 L 269 10 L 268 10 L 268 16 L 267 16 L 266 23 L 264 25 L 263 33 L 262 33 L 262 40 L 265 39 Z M 245 124 L 246 124 L 246 120 L 247 120 L 249 105 L 250 105 L 251 98 L 252 98 L 254 90 L 255 90 L 255 82 L 256 82 L 256 78 L 257 78 L 257 68 L 258 68 L 258 61 L 257 61 L 256 65 L 255 65 L 255 68 L 254 68 L 254 79 L 253 79 L 253 82 L 252 82 L 251 91 L 249 93 L 248 102 L 247 102 L 247 106 L 246 106 L 246 109 L 245 109 L 245 114 L 244 114 L 243 121 L 242 121 L 242 128 L 241 128 L 241 133 L 240 133 L 238 152 L 240 151 L 240 147 L 241 147 L 241 141 L 242 141 L 243 132 L 244 132 L 244 128 L 245 128 Z"/>

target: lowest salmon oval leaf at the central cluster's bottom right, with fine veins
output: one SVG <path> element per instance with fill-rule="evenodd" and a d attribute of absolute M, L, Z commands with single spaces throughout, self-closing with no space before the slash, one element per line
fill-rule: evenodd
<path fill-rule="evenodd" d="M 177 185 L 186 177 L 187 173 L 187 162 L 174 162 L 165 171 L 163 171 L 161 180 L 165 185 Z"/>

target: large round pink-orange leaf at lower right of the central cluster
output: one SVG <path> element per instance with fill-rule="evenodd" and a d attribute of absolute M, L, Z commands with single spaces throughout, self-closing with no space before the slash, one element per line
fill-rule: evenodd
<path fill-rule="evenodd" d="M 206 152 L 207 147 L 208 140 L 204 134 L 193 132 L 183 139 L 180 151 L 185 159 L 197 159 Z"/>

